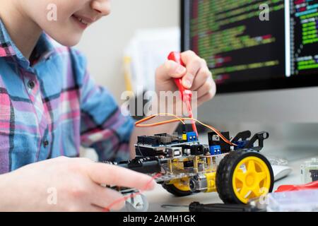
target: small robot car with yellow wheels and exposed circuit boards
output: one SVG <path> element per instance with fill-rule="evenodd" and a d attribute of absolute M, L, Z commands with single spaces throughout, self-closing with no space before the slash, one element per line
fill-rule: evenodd
<path fill-rule="evenodd" d="M 216 191 L 224 203 L 248 203 L 273 189 L 273 170 L 259 153 L 269 133 L 251 135 L 242 131 L 230 141 L 229 132 L 210 132 L 208 144 L 195 132 L 139 136 L 136 158 L 117 165 L 159 174 L 155 181 L 175 196 Z"/>

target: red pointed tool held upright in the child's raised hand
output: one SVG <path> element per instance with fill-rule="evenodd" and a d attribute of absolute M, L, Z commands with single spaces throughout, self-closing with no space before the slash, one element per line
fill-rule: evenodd
<path fill-rule="evenodd" d="M 167 59 L 171 61 L 175 61 L 177 64 L 181 64 L 182 66 L 186 66 L 181 59 L 181 54 L 179 52 L 171 52 Z M 191 98 L 192 98 L 192 91 L 184 88 L 182 85 L 182 78 L 175 78 L 175 84 L 179 89 L 181 100 L 187 105 L 187 110 L 189 114 L 189 118 L 193 118 L 192 114 L 192 107 L 191 107 Z M 196 124 L 192 121 L 192 129 L 196 132 L 196 136 L 198 136 L 198 131 L 196 130 Z"/>

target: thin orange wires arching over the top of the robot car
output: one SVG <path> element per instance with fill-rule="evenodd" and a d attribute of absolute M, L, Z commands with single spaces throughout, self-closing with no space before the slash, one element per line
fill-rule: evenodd
<path fill-rule="evenodd" d="M 175 117 L 176 119 L 170 119 L 170 120 L 165 120 L 165 121 L 160 121 L 160 122 L 155 122 L 155 123 L 152 123 L 152 124 L 141 124 L 145 121 L 148 121 L 150 119 L 153 119 L 154 117 L 157 117 L 157 116 L 160 116 L 160 115 L 166 115 L 166 116 L 173 116 Z M 189 120 L 189 121 L 195 121 L 199 124 L 201 124 L 202 126 L 206 126 L 208 129 L 211 129 L 212 131 L 214 131 L 216 134 L 218 134 L 218 136 L 220 136 L 220 138 L 225 142 L 225 143 L 228 143 L 229 145 L 232 145 L 232 146 L 236 146 L 235 143 L 232 143 L 230 142 L 227 138 L 225 138 L 225 136 L 223 136 L 222 133 L 220 133 L 220 131 L 218 131 L 216 128 L 214 128 L 213 126 L 209 126 L 207 124 L 204 124 L 203 122 L 197 120 L 197 119 L 194 119 L 194 118 L 180 118 L 180 117 L 177 117 L 175 114 L 167 114 L 167 113 L 159 113 L 159 114 L 153 114 L 149 117 L 146 117 L 145 119 L 141 119 L 139 121 L 136 121 L 135 123 L 135 126 L 136 127 L 153 127 L 153 126 L 160 126 L 160 125 L 163 125 L 163 124 L 170 124 L 172 122 L 176 122 L 176 121 L 181 121 L 182 124 L 185 124 L 184 121 L 186 120 Z"/>

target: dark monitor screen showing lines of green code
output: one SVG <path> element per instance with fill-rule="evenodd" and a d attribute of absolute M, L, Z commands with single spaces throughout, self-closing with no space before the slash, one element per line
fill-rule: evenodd
<path fill-rule="evenodd" d="M 182 1 L 182 49 L 219 93 L 318 85 L 318 0 Z"/>

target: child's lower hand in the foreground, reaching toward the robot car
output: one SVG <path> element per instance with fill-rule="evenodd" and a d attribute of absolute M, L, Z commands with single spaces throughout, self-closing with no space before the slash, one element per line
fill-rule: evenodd
<path fill-rule="evenodd" d="M 153 189 L 155 182 L 146 174 L 122 167 L 84 158 L 57 157 L 1 175 L 0 210 L 103 211 L 122 208 L 122 194 L 100 184 L 143 191 Z"/>

